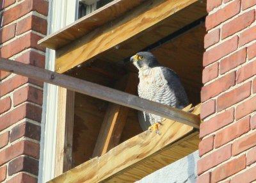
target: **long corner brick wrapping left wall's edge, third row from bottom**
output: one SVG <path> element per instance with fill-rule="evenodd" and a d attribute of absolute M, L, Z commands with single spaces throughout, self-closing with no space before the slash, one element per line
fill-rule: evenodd
<path fill-rule="evenodd" d="M 40 145 L 27 140 L 19 141 L 8 148 L 0 151 L 0 165 L 18 157 L 19 155 L 29 155 L 35 159 L 39 158 Z"/>

